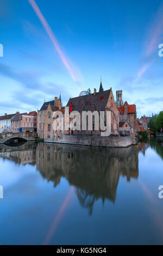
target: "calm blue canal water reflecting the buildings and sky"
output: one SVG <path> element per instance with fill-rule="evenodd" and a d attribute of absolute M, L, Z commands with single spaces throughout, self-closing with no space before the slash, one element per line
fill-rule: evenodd
<path fill-rule="evenodd" d="M 1 245 L 163 244 L 160 139 L 0 145 L 0 185 Z"/>

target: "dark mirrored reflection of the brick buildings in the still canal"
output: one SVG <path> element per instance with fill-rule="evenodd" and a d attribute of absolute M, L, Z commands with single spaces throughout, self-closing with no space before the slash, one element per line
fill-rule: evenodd
<path fill-rule="evenodd" d="M 0 156 L 17 164 L 36 164 L 43 178 L 56 187 L 64 177 L 75 187 L 82 207 L 92 214 L 97 199 L 116 200 L 120 175 L 137 179 L 139 147 L 88 148 L 50 143 L 26 143 L 20 148 L 0 147 Z"/>

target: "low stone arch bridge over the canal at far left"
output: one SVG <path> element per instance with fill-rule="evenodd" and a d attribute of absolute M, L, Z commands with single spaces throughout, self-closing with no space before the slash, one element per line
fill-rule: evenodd
<path fill-rule="evenodd" d="M 0 135 L 0 144 L 7 142 L 9 139 L 18 139 L 20 141 L 35 141 L 37 134 L 31 133 L 7 133 Z"/>

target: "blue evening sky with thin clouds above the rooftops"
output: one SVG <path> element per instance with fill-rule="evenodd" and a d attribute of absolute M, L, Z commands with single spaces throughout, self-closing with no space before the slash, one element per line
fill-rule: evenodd
<path fill-rule="evenodd" d="M 137 115 L 163 102 L 162 1 L 35 0 L 60 55 L 28 0 L 0 0 L 0 114 L 40 109 L 61 93 L 64 105 L 81 90 L 123 90 Z M 72 78 L 75 77 L 75 79 Z"/>

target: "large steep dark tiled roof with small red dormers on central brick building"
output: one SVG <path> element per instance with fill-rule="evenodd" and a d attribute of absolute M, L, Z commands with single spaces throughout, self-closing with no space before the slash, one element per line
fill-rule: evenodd
<path fill-rule="evenodd" d="M 104 90 L 103 92 L 87 94 L 79 97 L 70 98 L 67 103 L 67 107 L 70 107 L 72 111 L 102 111 L 106 108 L 110 90 Z"/>

